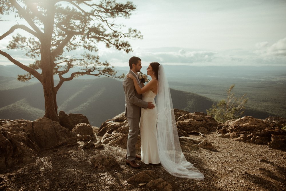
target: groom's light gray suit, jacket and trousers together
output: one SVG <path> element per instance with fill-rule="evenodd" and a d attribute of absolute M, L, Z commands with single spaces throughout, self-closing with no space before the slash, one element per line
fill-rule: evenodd
<path fill-rule="evenodd" d="M 128 73 L 137 78 L 137 76 L 130 70 Z M 139 83 L 141 87 L 141 84 Z M 127 139 L 127 160 L 135 160 L 139 122 L 141 115 L 141 108 L 147 108 L 148 102 L 142 101 L 142 94 L 138 94 L 135 90 L 133 80 L 124 77 L 123 88 L 125 93 L 125 116 L 129 123 L 129 133 Z"/>

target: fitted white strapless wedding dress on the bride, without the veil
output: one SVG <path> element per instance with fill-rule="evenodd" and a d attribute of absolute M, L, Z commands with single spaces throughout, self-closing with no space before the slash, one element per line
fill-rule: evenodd
<path fill-rule="evenodd" d="M 156 94 L 151 90 L 142 94 L 142 100 L 152 102 L 154 109 L 141 109 L 140 136 L 141 136 L 141 161 L 145 164 L 160 163 L 157 142 L 157 108 L 154 102 Z"/>

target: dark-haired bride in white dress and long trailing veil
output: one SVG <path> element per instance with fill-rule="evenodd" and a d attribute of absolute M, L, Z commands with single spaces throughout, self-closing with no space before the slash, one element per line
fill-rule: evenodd
<path fill-rule="evenodd" d="M 152 62 L 147 68 L 147 75 L 152 79 L 142 89 L 133 75 L 127 75 L 133 79 L 137 93 L 142 94 L 142 100 L 155 105 L 153 110 L 141 110 L 141 161 L 145 164 L 161 163 L 173 176 L 204 180 L 204 175 L 182 153 L 164 67 L 158 62 Z"/>

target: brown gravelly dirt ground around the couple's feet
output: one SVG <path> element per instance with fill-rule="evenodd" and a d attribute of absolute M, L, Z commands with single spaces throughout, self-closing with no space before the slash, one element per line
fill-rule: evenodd
<path fill-rule="evenodd" d="M 161 165 L 141 161 L 142 168 L 134 169 L 125 164 L 126 149 L 104 145 L 102 150 L 83 150 L 79 141 L 79 146 L 44 150 L 34 163 L 0 171 L 0 190 L 148 190 L 146 185 L 126 182 L 142 170 L 153 170 L 176 190 L 286 190 L 285 151 L 220 138 L 216 133 L 193 138 L 206 139 L 216 147 L 184 152 L 204 174 L 204 181 L 177 178 Z M 119 166 L 94 169 L 90 158 L 95 154 L 114 156 Z"/>

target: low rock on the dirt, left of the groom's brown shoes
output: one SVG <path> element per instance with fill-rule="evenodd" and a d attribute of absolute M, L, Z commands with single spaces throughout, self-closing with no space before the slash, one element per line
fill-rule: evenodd
<path fill-rule="evenodd" d="M 118 165 L 118 162 L 114 157 L 108 159 L 103 154 L 96 154 L 92 156 L 91 162 L 94 165 L 94 168 L 109 168 Z"/>

